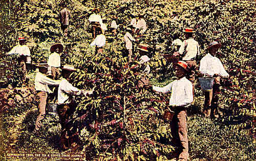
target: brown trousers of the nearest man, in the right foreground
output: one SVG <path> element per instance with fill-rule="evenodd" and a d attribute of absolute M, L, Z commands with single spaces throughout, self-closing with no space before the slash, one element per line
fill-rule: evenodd
<path fill-rule="evenodd" d="M 173 143 L 181 147 L 179 159 L 187 160 L 188 157 L 188 139 L 187 139 L 187 114 L 186 110 L 175 112 L 171 122 L 171 131 Z"/>

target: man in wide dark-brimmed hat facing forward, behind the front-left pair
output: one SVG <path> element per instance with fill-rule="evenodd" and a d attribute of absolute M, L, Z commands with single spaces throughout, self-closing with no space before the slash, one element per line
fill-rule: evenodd
<path fill-rule="evenodd" d="M 50 51 L 48 65 L 51 67 L 53 79 L 57 79 L 60 76 L 60 53 L 63 51 L 63 45 L 61 43 L 55 43 L 51 46 Z"/>

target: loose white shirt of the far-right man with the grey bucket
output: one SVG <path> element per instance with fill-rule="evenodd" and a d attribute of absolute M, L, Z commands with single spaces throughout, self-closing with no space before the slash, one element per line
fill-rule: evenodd
<path fill-rule="evenodd" d="M 206 54 L 200 61 L 199 71 L 202 74 L 208 74 L 214 76 L 214 74 L 221 75 L 222 77 L 229 77 L 229 74 L 225 71 L 219 58 Z"/>

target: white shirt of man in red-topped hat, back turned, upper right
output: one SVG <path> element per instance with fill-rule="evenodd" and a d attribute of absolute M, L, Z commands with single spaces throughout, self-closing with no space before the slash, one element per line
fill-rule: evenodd
<path fill-rule="evenodd" d="M 197 54 L 200 54 L 198 42 L 191 37 L 184 40 L 180 46 L 179 54 L 183 55 L 182 60 L 195 58 Z"/>

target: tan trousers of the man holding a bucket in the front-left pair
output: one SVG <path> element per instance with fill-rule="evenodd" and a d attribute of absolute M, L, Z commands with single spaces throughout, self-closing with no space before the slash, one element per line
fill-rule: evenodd
<path fill-rule="evenodd" d="M 45 118 L 47 97 L 48 97 L 48 94 L 46 91 L 39 91 L 36 94 L 36 103 L 37 103 L 37 108 L 39 110 L 39 114 L 35 121 L 35 130 L 40 129 L 42 125 L 41 120 Z"/>

